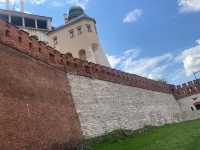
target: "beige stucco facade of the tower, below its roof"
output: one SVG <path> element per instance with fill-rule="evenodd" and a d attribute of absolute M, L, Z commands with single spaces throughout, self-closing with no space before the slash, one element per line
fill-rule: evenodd
<path fill-rule="evenodd" d="M 88 31 L 87 26 L 91 31 Z M 81 28 L 81 31 L 78 30 Z M 73 37 L 70 32 L 73 31 Z M 103 49 L 99 43 L 95 22 L 82 19 L 73 24 L 66 25 L 48 34 L 50 46 L 62 53 L 71 53 L 73 57 L 80 58 L 79 52 L 85 50 L 86 59 L 90 62 L 110 66 Z M 55 41 L 56 39 L 56 41 Z"/>

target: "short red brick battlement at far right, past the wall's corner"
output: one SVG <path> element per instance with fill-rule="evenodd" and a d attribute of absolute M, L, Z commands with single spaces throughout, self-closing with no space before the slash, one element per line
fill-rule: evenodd
<path fill-rule="evenodd" d="M 176 99 L 181 99 L 194 94 L 200 93 L 200 79 L 184 83 L 182 85 L 174 86 L 172 88 Z"/>

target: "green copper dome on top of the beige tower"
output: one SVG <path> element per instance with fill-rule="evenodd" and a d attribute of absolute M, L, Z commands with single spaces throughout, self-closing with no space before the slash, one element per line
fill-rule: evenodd
<path fill-rule="evenodd" d="M 84 14 L 83 8 L 80 6 L 73 6 L 69 9 L 69 20 Z"/>

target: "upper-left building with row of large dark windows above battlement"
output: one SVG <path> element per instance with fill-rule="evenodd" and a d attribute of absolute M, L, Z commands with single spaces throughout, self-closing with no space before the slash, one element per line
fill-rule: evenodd
<path fill-rule="evenodd" d="M 48 43 L 47 33 L 52 30 L 51 17 L 0 9 L 0 19 L 28 32 L 30 36 L 37 36 L 40 41 Z"/>

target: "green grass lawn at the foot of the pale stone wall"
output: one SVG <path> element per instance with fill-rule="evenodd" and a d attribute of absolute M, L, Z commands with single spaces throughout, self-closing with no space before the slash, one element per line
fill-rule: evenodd
<path fill-rule="evenodd" d="M 200 150 L 200 120 L 139 130 L 129 136 L 107 135 L 93 150 Z M 96 144 L 94 144 L 96 143 Z"/>

